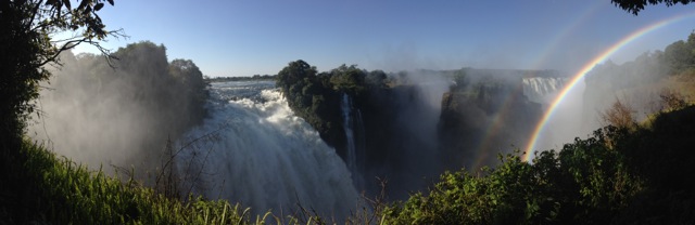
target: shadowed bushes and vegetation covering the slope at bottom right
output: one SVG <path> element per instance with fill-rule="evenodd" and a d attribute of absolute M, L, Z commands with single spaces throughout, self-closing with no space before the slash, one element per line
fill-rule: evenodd
<path fill-rule="evenodd" d="M 559 151 L 443 174 L 386 210 L 393 224 L 692 224 L 695 106 L 650 127 L 606 127 Z"/>

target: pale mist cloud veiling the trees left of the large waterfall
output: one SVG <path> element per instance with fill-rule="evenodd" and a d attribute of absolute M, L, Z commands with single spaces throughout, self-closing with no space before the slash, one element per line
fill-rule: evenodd
<path fill-rule="evenodd" d="M 90 169 L 151 181 L 168 160 L 167 143 L 204 116 L 200 70 L 190 61 L 169 63 L 165 51 L 129 44 L 111 64 L 63 53 L 41 90 L 30 136 Z"/>

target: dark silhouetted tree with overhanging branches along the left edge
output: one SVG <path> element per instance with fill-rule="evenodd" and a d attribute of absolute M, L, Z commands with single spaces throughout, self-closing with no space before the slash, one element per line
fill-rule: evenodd
<path fill-rule="evenodd" d="M 113 5 L 113 0 L 77 2 L 73 8 L 71 0 L 0 1 L 0 193 L 17 196 L 3 195 L 0 221 L 22 224 L 41 216 L 33 207 L 40 204 L 39 187 L 23 175 L 27 156 L 21 149 L 28 117 L 37 110 L 33 102 L 39 96 L 40 82 L 51 76 L 48 67 L 60 65 L 59 55 L 80 43 L 92 44 L 108 56 L 99 41 L 119 35 L 106 30 L 98 15 L 104 2 Z M 80 35 L 54 40 L 62 31 Z"/>

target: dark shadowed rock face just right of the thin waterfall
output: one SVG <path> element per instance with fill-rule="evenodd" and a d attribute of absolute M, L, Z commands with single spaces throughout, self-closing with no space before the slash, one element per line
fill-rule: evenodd
<path fill-rule="evenodd" d="M 364 173 L 367 191 L 377 194 L 375 177 L 389 180 L 393 198 L 422 189 L 442 171 L 437 142 L 439 111 L 418 87 L 403 85 L 356 98 L 364 118 Z"/>

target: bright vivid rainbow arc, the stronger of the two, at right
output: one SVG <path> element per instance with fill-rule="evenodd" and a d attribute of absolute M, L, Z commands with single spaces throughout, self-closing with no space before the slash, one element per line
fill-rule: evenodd
<path fill-rule="evenodd" d="M 686 13 L 686 14 L 682 14 L 682 15 L 677 15 L 677 16 L 672 16 L 659 22 L 656 22 L 654 24 L 650 24 L 646 27 L 640 28 L 635 31 L 633 31 L 632 34 L 623 37 L 622 39 L 620 39 L 618 42 L 616 42 L 615 44 L 612 44 L 610 48 L 604 50 L 601 54 L 598 54 L 597 56 L 595 56 L 593 59 L 591 59 L 589 63 L 586 63 L 583 67 L 581 67 L 581 69 L 569 80 L 569 82 L 567 83 L 567 85 L 565 87 L 565 89 L 563 89 L 557 97 L 551 102 L 548 108 L 546 109 L 545 114 L 543 114 L 543 116 L 541 117 L 541 120 L 539 121 L 539 123 L 536 123 L 535 129 L 533 130 L 533 133 L 531 135 L 531 138 L 528 143 L 528 145 L 526 146 L 525 153 L 526 156 L 523 157 L 526 161 L 531 161 L 533 159 L 533 150 L 535 149 L 535 144 L 539 141 L 539 137 L 541 136 L 541 134 L 545 131 L 545 124 L 548 122 L 548 120 L 553 117 L 553 112 L 555 111 L 555 108 L 559 105 L 560 102 L 563 102 L 563 100 L 567 96 L 567 93 L 569 93 L 572 88 L 574 88 L 574 85 L 582 80 L 582 78 L 584 78 L 584 76 L 591 71 L 597 64 L 606 61 L 610 55 L 612 55 L 614 53 L 616 53 L 618 50 L 622 49 L 623 47 L 626 47 L 627 44 L 629 44 L 630 42 L 634 41 L 635 39 L 650 32 L 654 31 L 658 28 L 661 28 L 664 26 L 667 26 L 669 24 L 672 24 L 674 22 L 681 21 L 683 18 L 690 17 L 695 15 L 695 13 Z"/>

